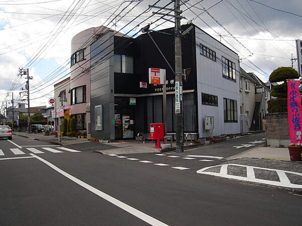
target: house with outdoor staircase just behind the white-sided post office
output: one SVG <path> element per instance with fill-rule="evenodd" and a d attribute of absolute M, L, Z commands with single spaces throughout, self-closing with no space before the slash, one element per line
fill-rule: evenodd
<path fill-rule="evenodd" d="M 266 118 L 267 101 L 270 99 L 270 89 L 254 73 L 241 70 L 240 91 L 242 103 L 241 114 L 248 116 L 248 128 L 250 131 L 262 131 L 262 120 Z"/>

